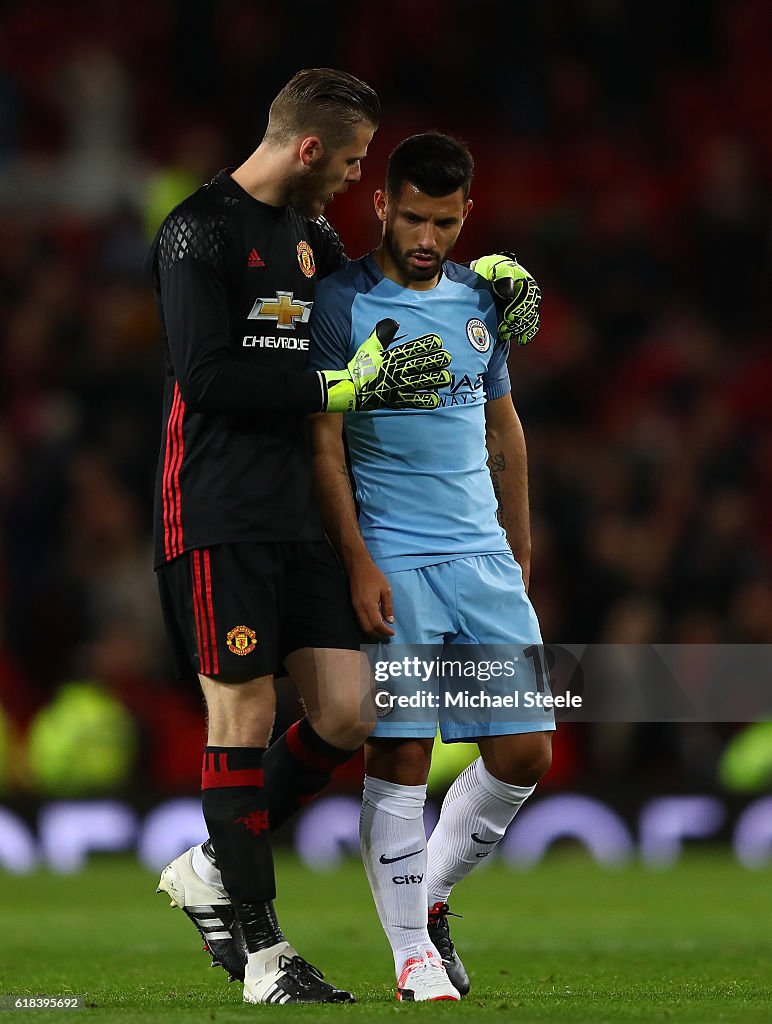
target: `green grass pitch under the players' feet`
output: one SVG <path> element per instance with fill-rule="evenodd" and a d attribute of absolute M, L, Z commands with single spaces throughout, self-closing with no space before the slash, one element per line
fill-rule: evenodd
<path fill-rule="evenodd" d="M 480 870 L 454 901 L 464 919 L 453 934 L 472 980 L 461 1004 L 394 1001 L 390 953 L 357 861 L 312 874 L 284 856 L 277 878 L 287 935 L 357 1006 L 245 1006 L 241 986 L 207 967 L 192 925 L 154 894 L 157 877 L 103 858 L 71 878 L 0 874 L 0 992 L 86 1001 L 80 1013 L 10 1011 L 8 1020 L 772 1020 L 772 871 L 746 871 L 725 855 L 693 855 L 663 872 L 609 872 L 557 854 L 524 873 Z"/>

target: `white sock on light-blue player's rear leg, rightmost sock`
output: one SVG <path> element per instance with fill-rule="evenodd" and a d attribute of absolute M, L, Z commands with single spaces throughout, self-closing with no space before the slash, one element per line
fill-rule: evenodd
<path fill-rule="evenodd" d="M 495 778 L 477 758 L 445 795 L 428 844 L 428 906 L 446 903 L 451 890 L 476 867 L 507 830 L 534 785 L 510 785 Z M 476 837 L 476 838 L 475 838 Z"/>

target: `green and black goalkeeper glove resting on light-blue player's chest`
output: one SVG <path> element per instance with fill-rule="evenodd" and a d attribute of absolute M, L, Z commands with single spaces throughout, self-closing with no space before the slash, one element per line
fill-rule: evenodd
<path fill-rule="evenodd" d="M 437 390 L 451 383 L 451 353 L 436 334 L 425 334 L 387 349 L 399 325 L 376 324 L 354 352 L 347 370 L 319 370 L 326 413 L 374 409 L 436 409 Z"/>

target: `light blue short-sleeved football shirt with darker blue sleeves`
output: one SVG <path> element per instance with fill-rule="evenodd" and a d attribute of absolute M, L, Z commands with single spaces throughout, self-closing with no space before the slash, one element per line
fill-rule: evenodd
<path fill-rule="evenodd" d="M 429 291 L 401 288 L 372 256 L 324 279 L 311 313 L 311 367 L 343 369 L 385 317 L 394 342 L 438 334 L 453 355 L 440 408 L 348 413 L 359 528 L 384 572 L 508 552 L 485 449 L 485 400 L 510 391 L 489 286 L 446 261 Z"/>

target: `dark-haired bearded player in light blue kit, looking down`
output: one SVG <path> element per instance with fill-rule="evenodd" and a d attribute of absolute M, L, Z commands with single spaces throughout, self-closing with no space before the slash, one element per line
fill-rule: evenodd
<path fill-rule="evenodd" d="M 464 650 L 457 645 L 522 650 L 542 642 L 523 582 L 530 550 L 526 455 L 510 396 L 509 341 L 498 336 L 491 285 L 445 259 L 472 208 L 472 169 L 466 146 L 448 136 L 430 132 L 400 143 L 389 158 L 386 188 L 375 196 L 381 245 L 320 282 L 313 308 L 312 365 L 345 367 L 355 339 L 379 322 L 384 335 L 397 326 L 405 337 L 439 335 L 453 356 L 453 383 L 431 413 L 379 410 L 313 423 L 328 532 L 359 621 L 381 640 L 386 658 L 389 647 L 402 644 L 444 646 L 445 656 L 456 656 Z M 516 341 L 530 340 L 535 283 L 513 258 L 486 260 L 494 263 L 490 280 L 509 278 L 516 286 Z M 442 682 L 434 682 L 439 693 Z M 417 688 L 414 678 L 402 692 Z M 484 688 L 532 691 L 532 669 L 524 665 L 514 680 Z M 397 694 L 399 682 L 390 680 L 388 690 Z M 500 721 L 490 713 L 441 711 L 442 738 L 474 740 L 480 757 L 447 793 L 427 852 L 423 808 L 436 718 L 394 709 L 366 745 L 362 856 L 403 999 L 456 999 L 469 990 L 447 928 L 451 890 L 502 839 L 551 759 L 549 711 L 528 713 L 527 721 L 517 712 Z"/>

